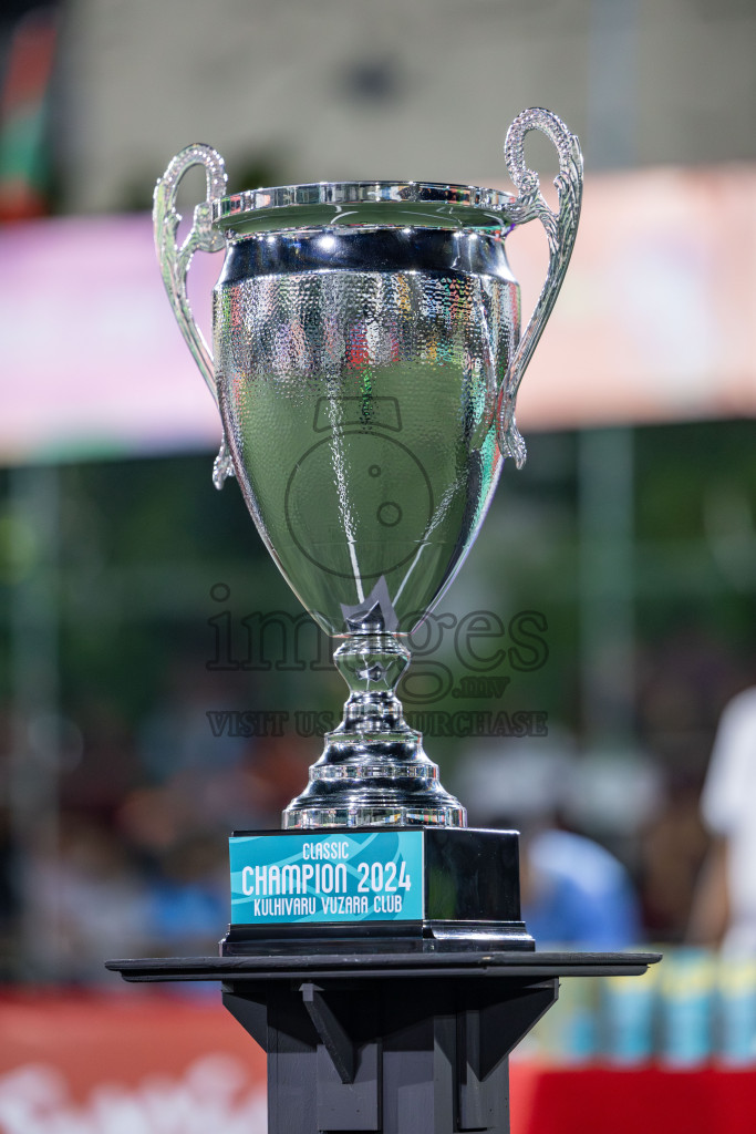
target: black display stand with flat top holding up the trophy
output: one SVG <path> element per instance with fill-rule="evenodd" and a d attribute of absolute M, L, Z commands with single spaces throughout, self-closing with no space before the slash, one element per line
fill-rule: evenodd
<path fill-rule="evenodd" d="M 562 976 L 653 953 L 337 953 L 111 960 L 127 981 L 221 982 L 267 1053 L 270 1134 L 509 1132 L 512 1048 Z"/>

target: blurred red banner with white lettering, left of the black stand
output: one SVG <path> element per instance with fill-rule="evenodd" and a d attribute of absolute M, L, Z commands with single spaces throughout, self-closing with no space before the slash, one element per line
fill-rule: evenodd
<path fill-rule="evenodd" d="M 6 996 L 1 1134 L 264 1134 L 265 1056 L 202 1000 Z"/>

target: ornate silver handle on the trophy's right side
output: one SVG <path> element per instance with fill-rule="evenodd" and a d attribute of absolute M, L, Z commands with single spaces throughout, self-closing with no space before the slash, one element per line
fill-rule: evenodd
<path fill-rule="evenodd" d="M 554 178 L 559 194 L 558 213 L 553 212 L 544 201 L 538 175 L 525 164 L 525 136 L 530 130 L 541 130 L 545 134 L 559 154 L 559 174 Z M 550 110 L 532 107 L 518 115 L 509 127 L 504 142 L 504 161 L 509 176 L 519 189 L 517 200 L 508 208 L 512 223 L 524 225 L 537 217 L 546 230 L 549 242 L 546 281 L 507 367 L 496 409 L 501 454 L 504 457 L 513 457 L 517 467 L 521 468 L 527 452 L 525 441 L 515 424 L 515 399 L 525 369 L 559 295 L 572 254 L 583 198 L 583 154 L 577 137 L 570 134 L 561 118 L 552 115 Z"/>

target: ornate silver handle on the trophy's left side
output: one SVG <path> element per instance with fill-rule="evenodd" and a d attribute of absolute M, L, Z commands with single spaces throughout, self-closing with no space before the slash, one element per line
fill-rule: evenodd
<path fill-rule="evenodd" d="M 207 197 L 196 205 L 189 234 L 179 247 L 176 234 L 181 222 L 181 214 L 176 208 L 176 195 L 181 178 L 193 166 L 202 166 L 205 170 Z M 226 185 L 226 167 L 221 155 L 209 145 L 189 145 L 176 154 L 163 176 L 159 178 L 152 210 L 155 247 L 163 285 L 181 335 L 215 399 L 215 405 L 218 405 L 218 387 L 213 357 L 192 314 L 186 279 L 195 252 L 220 252 L 224 247 L 223 234 L 212 225 L 212 202 L 215 197 L 224 195 Z M 220 489 L 226 477 L 232 475 L 231 455 L 223 434 L 220 452 L 213 465 L 213 484 Z"/>

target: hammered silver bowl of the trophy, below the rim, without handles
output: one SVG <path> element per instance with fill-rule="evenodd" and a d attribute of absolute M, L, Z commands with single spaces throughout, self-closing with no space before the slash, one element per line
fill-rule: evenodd
<path fill-rule="evenodd" d="M 255 239 L 274 257 L 271 237 Z M 218 390 L 241 490 L 323 629 L 349 633 L 380 592 L 376 628 L 408 634 L 455 577 L 499 479 L 494 415 L 517 285 L 498 237 L 376 229 L 273 242 L 280 260 L 320 266 L 235 279 L 231 251 L 231 279 L 215 289 Z M 473 259 L 469 242 L 481 261 L 493 245 L 500 274 L 453 266 Z M 431 252 L 435 270 L 397 265 Z M 364 266 L 329 266 L 340 253 Z"/>

